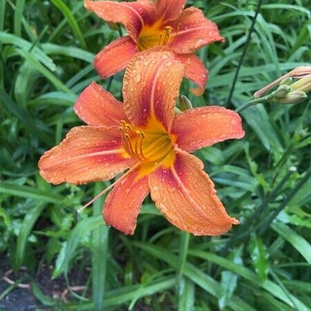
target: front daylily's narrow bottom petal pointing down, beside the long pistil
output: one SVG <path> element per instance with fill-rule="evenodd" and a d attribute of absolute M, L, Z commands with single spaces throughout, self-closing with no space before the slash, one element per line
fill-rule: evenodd
<path fill-rule="evenodd" d="M 104 204 L 104 220 L 124 234 L 133 234 L 142 201 L 149 194 L 148 178 L 138 178 L 138 171 L 131 171 L 117 181 Z"/>

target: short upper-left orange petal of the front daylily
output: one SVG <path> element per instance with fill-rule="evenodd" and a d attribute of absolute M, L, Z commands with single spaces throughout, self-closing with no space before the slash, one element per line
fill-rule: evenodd
<path fill-rule="evenodd" d="M 81 93 L 73 109 L 81 120 L 91 126 L 118 126 L 121 120 L 126 120 L 122 102 L 96 82 Z"/>

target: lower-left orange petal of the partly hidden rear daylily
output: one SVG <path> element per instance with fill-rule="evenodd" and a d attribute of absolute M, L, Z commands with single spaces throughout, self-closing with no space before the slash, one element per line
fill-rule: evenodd
<path fill-rule="evenodd" d="M 95 69 L 102 78 L 110 77 L 123 70 L 135 53 L 138 53 L 138 48 L 131 37 L 121 37 L 95 56 Z"/>

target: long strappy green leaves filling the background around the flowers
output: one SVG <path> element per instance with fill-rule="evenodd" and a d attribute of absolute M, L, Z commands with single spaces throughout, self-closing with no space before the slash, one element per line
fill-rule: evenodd
<path fill-rule="evenodd" d="M 120 34 L 81 0 L 0 1 L 0 252 L 55 310 L 310 310 L 310 102 L 259 104 L 242 113 L 243 140 L 197 152 L 229 214 L 225 236 L 194 237 L 169 225 L 145 200 L 135 235 L 104 226 L 102 200 L 77 214 L 105 185 L 48 185 L 37 161 L 81 124 L 73 104 L 93 80 L 121 99 L 122 73 L 103 81 L 93 57 Z M 310 62 L 308 0 L 263 1 L 232 99 L 228 96 L 257 1 L 188 1 L 226 38 L 200 50 L 210 70 L 194 106 L 234 109 L 286 71 Z M 122 30 L 124 32 L 124 30 Z M 116 55 L 117 57 L 117 55 Z M 44 295 L 40 274 L 63 278 L 68 303 Z M 73 270 L 86 278 L 76 292 Z M 37 281 L 35 281 L 37 280 Z M 21 281 L 21 280 L 20 280 Z M 39 285 L 36 283 L 39 282 Z M 15 285 L 0 293 L 0 303 Z"/>

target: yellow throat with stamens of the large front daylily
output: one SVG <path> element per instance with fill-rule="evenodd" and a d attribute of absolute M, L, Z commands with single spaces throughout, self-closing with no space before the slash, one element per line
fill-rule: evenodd
<path fill-rule="evenodd" d="M 126 156 L 142 164 L 142 175 L 150 173 L 160 165 L 171 166 L 174 159 L 174 135 L 165 131 L 156 119 L 143 128 L 121 121 L 123 147 Z"/>

